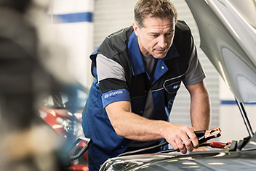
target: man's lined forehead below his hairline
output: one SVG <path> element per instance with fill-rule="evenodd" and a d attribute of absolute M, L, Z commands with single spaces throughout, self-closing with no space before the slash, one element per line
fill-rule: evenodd
<path fill-rule="evenodd" d="M 175 19 L 161 19 L 156 17 L 147 17 L 143 21 L 143 28 L 145 30 L 167 30 L 174 31 L 175 30 Z"/>

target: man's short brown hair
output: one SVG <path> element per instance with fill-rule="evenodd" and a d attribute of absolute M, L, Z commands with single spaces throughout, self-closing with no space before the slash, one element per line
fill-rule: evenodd
<path fill-rule="evenodd" d="M 175 19 L 177 22 L 177 10 L 169 0 L 139 0 L 135 4 L 135 22 L 143 28 L 143 21 L 147 17 Z"/>

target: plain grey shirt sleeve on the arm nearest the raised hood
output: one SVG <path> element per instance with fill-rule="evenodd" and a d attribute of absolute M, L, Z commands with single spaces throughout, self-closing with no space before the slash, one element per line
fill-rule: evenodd
<path fill-rule="evenodd" d="M 183 78 L 183 83 L 185 86 L 191 86 L 201 82 L 204 80 L 204 78 L 206 78 L 206 76 L 198 59 L 196 46 L 193 43 L 193 38 L 191 37 L 191 57 L 188 64 L 188 70 L 185 72 L 185 77 Z"/>

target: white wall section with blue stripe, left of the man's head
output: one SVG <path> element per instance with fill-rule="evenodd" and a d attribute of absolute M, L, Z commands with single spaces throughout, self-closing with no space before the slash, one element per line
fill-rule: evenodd
<path fill-rule="evenodd" d="M 76 79 L 89 88 L 92 83 L 89 54 L 93 51 L 93 0 L 52 0 L 49 15 L 60 32 Z"/>

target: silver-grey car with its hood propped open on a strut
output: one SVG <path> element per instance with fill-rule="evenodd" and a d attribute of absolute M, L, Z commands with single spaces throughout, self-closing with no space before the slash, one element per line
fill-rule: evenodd
<path fill-rule="evenodd" d="M 244 103 L 256 102 L 255 1 L 185 0 L 199 28 L 200 47 L 236 97 L 249 136 L 224 149 L 190 154 L 141 154 L 108 159 L 108 170 L 255 170 L 256 135 Z"/>

